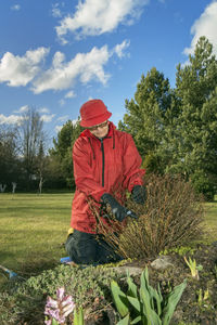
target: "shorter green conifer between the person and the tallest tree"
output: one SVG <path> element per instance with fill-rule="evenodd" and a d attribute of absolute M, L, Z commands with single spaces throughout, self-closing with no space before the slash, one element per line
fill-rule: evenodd
<path fill-rule="evenodd" d="M 137 86 L 135 100 L 126 100 L 127 114 L 118 128 L 132 134 L 144 165 L 150 171 L 159 170 L 163 164 L 158 155 L 166 128 L 177 115 L 173 91 L 168 79 L 153 67 Z M 161 153 L 162 155 L 162 153 Z M 145 167 L 148 167 L 145 166 Z"/>

